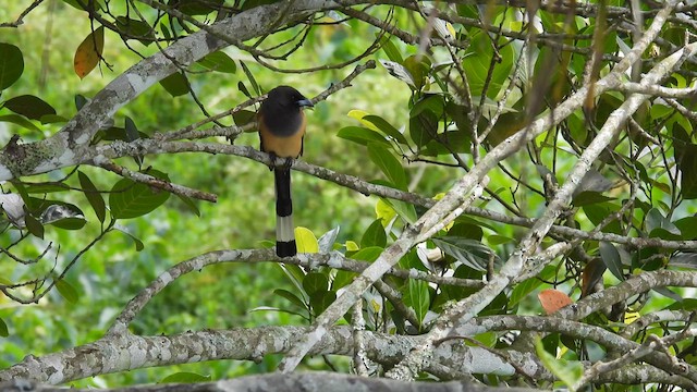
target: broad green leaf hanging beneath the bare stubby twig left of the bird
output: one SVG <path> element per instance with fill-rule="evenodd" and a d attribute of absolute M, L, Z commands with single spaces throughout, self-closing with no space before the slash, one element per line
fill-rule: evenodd
<path fill-rule="evenodd" d="M 163 173 L 155 170 L 150 170 L 148 174 L 158 179 L 166 177 Z M 169 192 L 123 179 L 111 188 L 109 208 L 117 219 L 137 218 L 160 207 L 169 197 Z"/>

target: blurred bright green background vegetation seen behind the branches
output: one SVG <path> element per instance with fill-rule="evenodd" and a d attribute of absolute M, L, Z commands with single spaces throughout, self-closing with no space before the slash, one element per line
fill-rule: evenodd
<path fill-rule="evenodd" d="M 15 20 L 28 3 L 7 2 L 0 8 L 0 21 Z M 119 7 L 113 2 L 111 5 Z M 90 22 L 85 12 L 54 0 L 34 10 L 20 28 L 3 28 L 0 40 L 22 49 L 25 70 L 21 79 L 3 91 L 2 98 L 36 95 L 53 106 L 59 115 L 70 119 L 76 112 L 75 95 L 93 97 L 139 61 L 139 57 L 130 51 L 118 35 L 106 32 L 103 58 L 113 69 L 101 66 L 81 81 L 73 72 L 73 56 L 89 32 Z M 345 61 L 363 52 L 374 37 L 374 29 L 355 23 L 317 26 L 306 48 L 278 65 L 294 69 Z M 145 47 L 137 41 L 130 44 L 146 57 L 157 51 L 155 45 Z M 289 84 L 308 97 L 341 81 L 355 66 L 313 74 L 280 74 L 258 65 L 248 54 L 235 48 L 228 48 L 225 52 L 235 60 L 245 61 L 264 89 Z M 375 59 L 376 56 L 370 58 Z M 248 86 L 240 68 L 233 75 L 199 73 L 191 74 L 189 78 L 209 113 L 225 111 L 246 99 L 237 89 L 241 81 Z M 357 125 L 356 120 L 346 115 L 353 109 L 379 114 L 396 126 L 404 125 L 408 121 L 406 102 L 409 89 L 390 77 L 380 66 L 365 72 L 353 85 L 308 112 L 309 125 L 303 159 L 366 180 L 380 179 L 380 171 L 366 159 L 365 148 L 338 138 L 335 134 L 343 126 Z M 0 114 L 5 113 L 0 110 Z M 126 115 L 134 120 L 139 131 L 148 134 L 178 130 L 204 119 L 191 96 L 172 98 L 160 85 L 152 86 L 119 110 L 113 118 L 115 125 L 123 126 Z M 228 118 L 222 122 L 231 124 L 232 120 Z M 61 125 L 44 125 L 42 134 L 36 134 L 0 123 L 0 145 L 7 144 L 15 133 L 21 133 L 23 143 L 40 139 L 56 133 Z M 222 138 L 219 142 L 224 143 Z M 258 137 L 256 134 L 245 134 L 235 144 L 256 148 Z M 137 169 L 132 159 L 122 159 L 119 163 Z M 10 332 L 9 338 L 0 338 L 1 368 L 21 362 L 27 354 L 40 356 L 99 339 L 120 309 L 139 290 L 176 262 L 215 249 L 260 247 L 262 242 L 273 240 L 272 174 L 264 164 L 239 157 L 182 154 L 148 156 L 145 166 L 167 172 L 174 183 L 217 194 L 218 203 L 196 201 L 200 209 L 200 217 L 197 217 L 176 197 L 171 197 L 152 213 L 120 221 L 145 243 L 145 249 L 136 252 L 130 237 L 118 232 L 110 233 L 87 252 L 66 277 L 77 291 L 76 303 L 66 302 L 56 290 L 39 304 L 33 305 L 17 305 L 0 296 L 0 317 L 8 323 Z M 418 167 L 414 164 L 409 170 L 420 170 Z M 81 170 L 99 188 L 110 188 L 118 181 L 117 175 L 100 169 L 83 167 Z M 63 170 L 24 180 L 57 180 L 68 172 Z M 417 184 L 418 191 L 426 196 L 441 192 L 453 181 L 452 175 L 440 169 L 433 169 L 431 174 L 423 175 Z M 76 179 L 70 183 L 77 186 Z M 358 242 L 376 218 L 375 197 L 365 197 L 303 173 L 293 174 L 293 185 L 295 222 L 311 230 L 318 237 L 340 226 L 338 242 Z M 32 240 L 20 245 L 19 250 L 23 254 L 38 255 L 48 242 L 53 243 L 53 249 L 49 253 L 51 257 L 44 260 L 39 268 L 42 271 L 50 270 L 53 258 L 59 267 L 64 266 L 98 234 L 99 222 L 84 195 L 71 192 L 62 197 L 83 208 L 88 224 L 82 231 L 47 226 L 45 242 Z M 60 245 L 58 255 L 54 253 L 56 245 Z M 0 275 L 20 281 L 36 277 L 37 266 L 26 268 L 3 259 L 0 261 Z M 139 315 L 133 323 L 133 330 L 142 334 L 170 334 L 200 329 L 305 323 L 302 318 L 284 313 L 250 311 L 259 306 L 293 309 L 292 304 L 273 294 L 274 289 L 293 291 L 281 268 L 273 264 L 227 264 L 207 268 L 166 289 Z M 268 357 L 259 364 L 221 360 L 172 369 L 143 369 L 100 376 L 72 384 L 103 387 L 152 382 L 182 370 L 219 379 L 272 370 L 276 359 Z M 341 359 L 339 363 L 347 362 Z M 326 368 L 320 359 L 310 360 L 309 365 Z"/>

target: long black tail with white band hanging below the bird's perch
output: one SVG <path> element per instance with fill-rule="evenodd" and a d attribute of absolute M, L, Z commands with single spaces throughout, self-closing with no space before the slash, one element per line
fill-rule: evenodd
<path fill-rule="evenodd" d="M 291 170 L 277 167 L 276 179 L 276 254 L 279 257 L 295 256 L 295 226 L 291 200 Z"/>

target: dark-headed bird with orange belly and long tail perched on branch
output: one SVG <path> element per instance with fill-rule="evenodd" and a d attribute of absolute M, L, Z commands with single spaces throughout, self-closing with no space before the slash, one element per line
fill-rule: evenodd
<path fill-rule="evenodd" d="M 291 199 L 291 163 L 303 155 L 303 140 L 307 119 L 303 108 L 313 108 L 313 101 L 291 86 L 271 89 L 257 113 L 260 149 L 271 156 L 269 169 L 276 183 L 276 255 L 291 257 L 297 254 Z M 284 158 L 276 166 L 277 158 Z"/>

